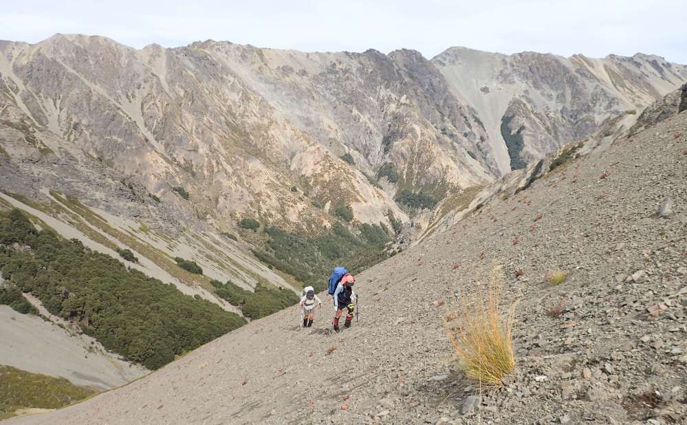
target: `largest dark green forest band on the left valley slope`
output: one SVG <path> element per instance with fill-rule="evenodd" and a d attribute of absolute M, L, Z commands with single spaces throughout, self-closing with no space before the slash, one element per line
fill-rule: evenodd
<path fill-rule="evenodd" d="M 157 369 L 246 323 L 76 239 L 47 229 L 36 232 L 21 216 L 17 210 L 0 213 L 0 240 L 23 235 L 17 242 L 31 248 L 0 247 L 3 277 L 126 360 Z"/>

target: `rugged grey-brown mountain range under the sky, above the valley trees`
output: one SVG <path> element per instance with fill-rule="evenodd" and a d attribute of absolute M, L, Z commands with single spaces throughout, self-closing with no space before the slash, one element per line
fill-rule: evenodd
<path fill-rule="evenodd" d="M 59 187 L 123 212 L 130 194 L 121 199 L 112 186 L 117 175 L 172 204 L 168 215 L 183 226 L 226 230 L 254 217 L 316 231 L 336 208 L 351 208 L 353 223 L 421 223 L 418 207 L 646 107 L 684 83 L 687 67 L 646 54 L 464 47 L 431 60 L 412 50 L 304 53 L 217 41 L 135 50 L 57 34 L 0 42 L 0 74 L 13 164 L 0 172 L 5 188 L 36 196 Z"/>

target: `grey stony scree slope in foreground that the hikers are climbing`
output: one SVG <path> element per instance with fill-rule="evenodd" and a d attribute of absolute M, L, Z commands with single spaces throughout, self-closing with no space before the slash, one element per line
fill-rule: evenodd
<path fill-rule="evenodd" d="M 686 152 L 683 112 L 569 157 L 366 270 L 351 329 L 329 333 L 328 305 L 307 330 L 284 310 L 120 389 L 8 424 L 684 423 Z M 505 298 L 519 299 L 516 369 L 486 390 L 455 369 L 442 321 L 481 293 L 494 261 Z M 554 270 L 567 274 L 555 286 Z"/>

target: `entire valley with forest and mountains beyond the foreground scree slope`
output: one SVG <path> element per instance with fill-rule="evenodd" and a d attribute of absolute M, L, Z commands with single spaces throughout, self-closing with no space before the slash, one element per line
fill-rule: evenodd
<path fill-rule="evenodd" d="M 639 53 L 0 41 L 0 419 L 127 384 L 323 290 L 334 265 L 472 226 L 675 115 L 686 82 Z M 61 399 L 4 397 L 17 382 Z"/>

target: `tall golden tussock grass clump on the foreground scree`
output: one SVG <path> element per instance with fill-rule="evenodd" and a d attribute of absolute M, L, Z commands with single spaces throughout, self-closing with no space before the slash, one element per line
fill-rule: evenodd
<path fill-rule="evenodd" d="M 486 289 L 464 293 L 459 312 L 446 316 L 444 329 L 468 378 L 499 386 L 515 367 L 514 312 L 515 303 L 503 297 L 503 270 L 494 265 Z"/>

